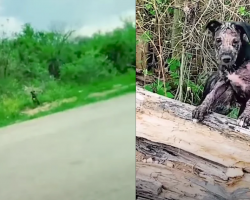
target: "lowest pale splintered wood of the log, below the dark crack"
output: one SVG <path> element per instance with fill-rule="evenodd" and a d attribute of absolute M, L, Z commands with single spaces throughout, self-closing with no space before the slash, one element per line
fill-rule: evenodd
<path fill-rule="evenodd" d="M 162 192 L 159 195 L 149 194 L 147 191 L 138 191 L 137 195 L 146 199 L 175 199 L 175 200 L 200 200 L 200 199 L 213 199 L 213 196 L 220 196 L 226 198 L 230 196 L 233 191 L 238 189 L 236 187 L 226 187 L 226 185 L 215 184 L 211 180 L 203 180 L 194 172 L 186 170 L 185 167 L 180 169 L 174 166 L 167 166 L 164 164 L 155 163 L 136 163 L 136 176 L 151 179 L 162 184 Z M 250 177 L 249 177 L 250 178 Z M 245 191 L 244 188 L 241 191 Z M 248 192 L 248 191 L 246 191 Z M 250 199 L 250 195 L 247 194 Z M 237 200 L 240 195 L 238 194 Z"/>

